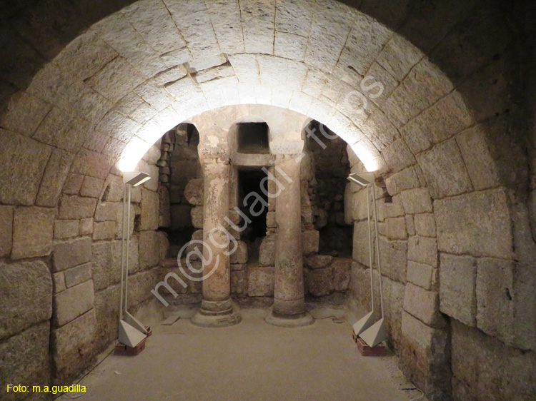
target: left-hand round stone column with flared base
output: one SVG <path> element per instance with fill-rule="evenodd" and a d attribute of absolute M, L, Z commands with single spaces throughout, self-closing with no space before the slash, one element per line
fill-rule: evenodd
<path fill-rule="evenodd" d="M 224 218 L 229 213 L 229 159 L 204 158 L 203 300 L 192 323 L 204 327 L 235 325 L 242 320 L 230 293 L 229 238 Z"/>

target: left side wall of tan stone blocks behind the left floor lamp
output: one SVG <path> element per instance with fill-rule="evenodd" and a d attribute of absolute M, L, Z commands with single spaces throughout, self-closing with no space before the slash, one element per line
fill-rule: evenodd
<path fill-rule="evenodd" d="M 156 231 L 158 156 L 152 148 L 139 163 L 153 179 L 131 195 L 132 313 L 150 301 L 159 249 L 165 246 Z M 117 337 L 121 173 L 112 168 L 84 174 L 72 167 L 69 172 L 71 161 L 58 159 L 67 166 L 61 196 L 44 197 L 42 206 L 0 207 L 3 382 L 70 384 Z"/>

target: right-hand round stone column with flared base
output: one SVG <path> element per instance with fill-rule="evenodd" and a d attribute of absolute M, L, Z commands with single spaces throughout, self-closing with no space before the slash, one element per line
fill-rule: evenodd
<path fill-rule="evenodd" d="M 279 154 L 274 169 L 280 190 L 275 198 L 274 306 L 266 319 L 273 325 L 304 326 L 314 322 L 304 301 L 300 161 L 297 154 Z"/>

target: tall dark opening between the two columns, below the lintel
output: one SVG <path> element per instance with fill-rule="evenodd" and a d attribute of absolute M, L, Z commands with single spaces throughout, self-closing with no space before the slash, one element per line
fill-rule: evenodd
<path fill-rule="evenodd" d="M 265 177 L 266 173 L 260 169 L 241 170 L 238 173 L 239 208 L 251 220 L 240 235 L 240 239 L 247 243 L 249 261 L 259 260 L 259 248 L 266 235 L 268 197 L 261 189 Z"/>

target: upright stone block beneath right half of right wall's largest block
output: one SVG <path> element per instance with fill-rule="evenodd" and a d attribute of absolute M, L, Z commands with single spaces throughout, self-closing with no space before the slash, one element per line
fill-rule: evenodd
<path fill-rule="evenodd" d="M 477 328 L 511 344 L 514 337 L 515 265 L 512 260 L 482 258 L 477 262 Z"/>

